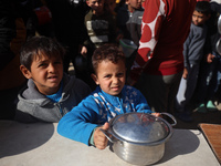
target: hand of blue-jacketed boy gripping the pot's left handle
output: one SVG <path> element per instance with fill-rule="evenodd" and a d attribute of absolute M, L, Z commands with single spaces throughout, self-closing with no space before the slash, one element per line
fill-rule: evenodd
<path fill-rule="evenodd" d="M 109 124 L 106 122 L 102 127 L 97 127 L 94 132 L 94 145 L 98 149 L 104 149 L 107 146 L 107 137 L 99 131 L 99 128 L 108 129 Z"/>

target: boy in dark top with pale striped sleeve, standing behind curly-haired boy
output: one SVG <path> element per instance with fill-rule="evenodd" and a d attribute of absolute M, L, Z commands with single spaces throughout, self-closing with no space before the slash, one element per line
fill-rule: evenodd
<path fill-rule="evenodd" d="M 84 20 L 88 38 L 81 53 L 88 56 L 102 44 L 116 42 L 116 23 L 113 15 L 105 11 L 104 0 L 86 0 L 86 3 L 91 7 Z"/>

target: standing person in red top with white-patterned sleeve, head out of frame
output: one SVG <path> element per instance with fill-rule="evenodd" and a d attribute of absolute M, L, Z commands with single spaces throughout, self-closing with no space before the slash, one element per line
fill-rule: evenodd
<path fill-rule="evenodd" d="M 146 96 L 151 111 L 173 113 L 183 71 L 183 43 L 196 0 L 148 0 L 139 49 L 128 76 Z"/>

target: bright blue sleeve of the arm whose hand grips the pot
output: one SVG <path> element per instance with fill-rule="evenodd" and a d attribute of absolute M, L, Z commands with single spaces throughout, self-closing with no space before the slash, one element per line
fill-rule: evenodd
<path fill-rule="evenodd" d="M 64 115 L 57 125 L 57 133 L 70 139 L 90 145 L 93 129 L 98 126 L 98 105 L 92 97 L 83 100 Z"/>

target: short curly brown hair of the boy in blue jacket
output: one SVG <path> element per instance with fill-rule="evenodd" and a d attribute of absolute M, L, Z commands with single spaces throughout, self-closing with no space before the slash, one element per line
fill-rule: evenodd
<path fill-rule="evenodd" d="M 98 63 L 102 61 L 110 61 L 113 63 L 117 63 L 119 60 L 125 63 L 126 60 L 124 52 L 115 44 L 104 44 L 96 49 L 92 55 L 93 70 L 96 74 Z"/>

